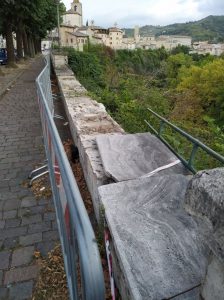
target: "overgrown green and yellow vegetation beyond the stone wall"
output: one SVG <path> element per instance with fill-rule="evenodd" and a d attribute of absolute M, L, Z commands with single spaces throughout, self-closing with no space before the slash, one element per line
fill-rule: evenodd
<path fill-rule="evenodd" d="M 91 96 L 130 133 L 158 128 L 147 108 L 168 118 L 215 151 L 224 154 L 224 59 L 189 55 L 185 48 L 113 51 L 89 45 L 69 50 L 69 64 Z M 164 136 L 187 159 L 191 144 L 165 129 Z M 198 152 L 198 169 L 218 166 Z"/>

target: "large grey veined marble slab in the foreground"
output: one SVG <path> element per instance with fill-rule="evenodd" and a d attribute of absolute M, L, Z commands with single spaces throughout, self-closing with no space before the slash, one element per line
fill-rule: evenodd
<path fill-rule="evenodd" d="M 169 299 L 202 283 L 211 228 L 183 209 L 187 183 L 183 175 L 154 175 L 99 187 L 113 262 L 130 294 L 123 299 Z M 177 299 L 198 299 L 186 296 Z"/>

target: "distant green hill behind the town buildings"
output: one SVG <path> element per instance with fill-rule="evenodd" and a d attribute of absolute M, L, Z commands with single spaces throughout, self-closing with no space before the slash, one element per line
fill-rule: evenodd
<path fill-rule="evenodd" d="M 128 37 L 133 36 L 134 30 L 125 28 Z M 224 41 L 224 16 L 208 16 L 202 20 L 188 23 L 176 23 L 167 26 L 146 25 L 140 28 L 142 36 L 153 35 L 189 35 L 193 41 Z"/>

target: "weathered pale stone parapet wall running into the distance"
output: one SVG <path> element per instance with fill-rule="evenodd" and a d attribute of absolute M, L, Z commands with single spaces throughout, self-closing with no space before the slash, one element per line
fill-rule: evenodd
<path fill-rule="evenodd" d="M 124 130 L 106 112 L 103 104 L 88 96 L 87 90 L 65 65 L 67 63 L 66 57 L 53 56 L 52 62 L 73 141 L 79 150 L 80 162 L 93 200 L 95 215 L 99 222 L 98 187 L 110 183 L 111 180 L 106 177 L 103 170 L 96 145 L 96 136 L 113 133 L 124 134 Z"/>

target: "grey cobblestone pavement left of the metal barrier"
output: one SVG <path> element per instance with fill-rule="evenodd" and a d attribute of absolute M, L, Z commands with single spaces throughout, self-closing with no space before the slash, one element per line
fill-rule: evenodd
<path fill-rule="evenodd" d="M 31 299 L 38 265 L 58 240 L 52 200 L 23 187 L 44 160 L 35 78 L 41 58 L 0 97 L 0 299 Z"/>

